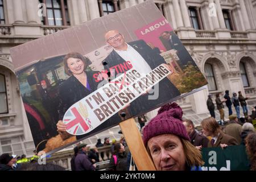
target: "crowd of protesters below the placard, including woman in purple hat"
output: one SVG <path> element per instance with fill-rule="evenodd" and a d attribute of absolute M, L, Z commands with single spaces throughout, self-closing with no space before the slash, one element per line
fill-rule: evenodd
<path fill-rule="evenodd" d="M 228 92 L 226 94 L 228 96 Z M 234 97 L 236 97 L 235 94 Z M 216 100 L 218 99 L 217 97 Z M 230 98 L 230 100 L 233 99 Z M 226 100 L 221 102 L 226 102 Z M 245 114 L 248 116 L 247 111 Z M 253 117 L 253 114 L 255 114 L 255 107 L 250 117 Z M 202 148 L 221 147 L 224 149 L 240 144 L 246 148 L 250 159 L 250 169 L 256 170 L 255 128 L 249 120 L 242 120 L 231 111 L 229 121 L 226 122 L 225 126 L 222 126 L 221 122 L 217 122 L 214 117 L 209 117 L 201 121 L 201 131 L 199 131 L 191 119 L 183 118 L 183 110 L 179 105 L 175 102 L 170 103 L 160 107 L 156 117 L 144 123 L 141 134 L 144 146 L 151 156 L 156 170 L 159 171 L 201 171 L 201 166 L 204 164 L 201 155 Z M 104 146 L 110 146 L 110 150 L 105 151 L 105 153 L 98 152 L 98 148 Z M 113 139 L 112 143 L 110 143 L 109 138 L 105 138 L 104 143 L 98 139 L 96 146 L 93 147 L 79 143 L 73 150 L 74 155 L 71 159 L 73 171 L 97 170 L 97 163 L 101 160 L 107 160 L 107 171 L 127 171 L 131 166 L 136 169 L 123 137 L 119 141 Z M 35 164 L 36 158 L 38 158 L 36 151 L 33 158 L 28 160 L 23 156 L 22 159 L 18 160 L 20 162 L 17 161 L 16 155 L 2 154 L 0 156 L 0 170 L 33 170 L 38 165 Z M 64 169 L 55 166 L 55 164 L 49 164 L 48 168 L 49 170 Z M 41 167 L 41 169 L 44 170 L 47 167 Z"/>

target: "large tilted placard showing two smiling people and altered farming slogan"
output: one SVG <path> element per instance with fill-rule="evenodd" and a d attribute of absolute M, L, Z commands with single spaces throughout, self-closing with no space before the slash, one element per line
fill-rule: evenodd
<path fill-rule="evenodd" d="M 36 149 L 47 154 L 207 84 L 153 1 L 10 52 Z"/>

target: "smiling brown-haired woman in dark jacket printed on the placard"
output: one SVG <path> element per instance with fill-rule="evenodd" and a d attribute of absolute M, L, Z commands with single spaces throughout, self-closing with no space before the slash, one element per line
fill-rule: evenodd
<path fill-rule="evenodd" d="M 65 73 L 71 77 L 60 86 L 60 119 L 63 118 L 65 111 L 69 107 L 94 92 L 94 90 L 97 90 L 98 86 L 93 78 L 94 73 L 98 72 L 85 71 L 90 63 L 87 57 L 77 52 L 71 52 L 64 57 L 63 63 Z M 63 121 L 60 120 L 57 123 L 57 130 L 62 132 L 62 137 L 65 139 L 64 133 L 67 133 L 65 132 L 66 125 Z M 84 135 L 77 135 L 76 139 L 83 137 Z"/>

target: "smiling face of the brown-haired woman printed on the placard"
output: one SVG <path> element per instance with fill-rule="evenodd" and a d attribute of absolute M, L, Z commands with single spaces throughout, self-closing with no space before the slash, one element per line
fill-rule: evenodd
<path fill-rule="evenodd" d="M 84 62 L 78 58 L 70 57 L 67 60 L 69 71 L 73 73 L 73 75 L 80 75 L 84 72 Z"/>

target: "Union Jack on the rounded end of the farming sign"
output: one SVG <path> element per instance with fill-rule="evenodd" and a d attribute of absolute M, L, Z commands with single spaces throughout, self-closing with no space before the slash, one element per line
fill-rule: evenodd
<path fill-rule="evenodd" d="M 65 113 L 64 123 L 67 125 L 67 132 L 72 135 L 82 135 L 89 130 L 90 121 L 88 118 L 84 120 L 76 107 L 72 107 Z M 88 126 L 89 125 L 89 126 Z"/>

